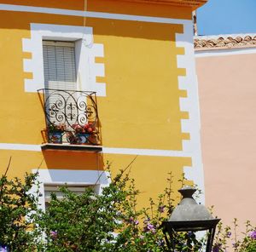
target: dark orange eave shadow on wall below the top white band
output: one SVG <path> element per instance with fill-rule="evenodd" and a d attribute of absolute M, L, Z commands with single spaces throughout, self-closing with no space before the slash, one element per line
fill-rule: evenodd
<path fill-rule="evenodd" d="M 15 13 L 15 18 L 10 19 L 9 12 L 3 12 L 1 18 L 2 29 L 21 29 L 30 31 L 31 23 L 51 24 L 59 26 L 83 26 L 83 17 L 73 17 L 52 14 Z M 54 21 L 53 21 L 54 17 Z M 6 20 L 6 22 L 4 21 Z M 164 40 L 175 42 L 176 33 L 183 33 L 183 25 L 153 23 L 131 20 L 111 20 L 86 18 L 85 26 L 93 28 L 94 35 L 104 35 L 113 37 L 135 37 L 152 40 Z M 21 41 L 20 41 L 21 43 Z"/>

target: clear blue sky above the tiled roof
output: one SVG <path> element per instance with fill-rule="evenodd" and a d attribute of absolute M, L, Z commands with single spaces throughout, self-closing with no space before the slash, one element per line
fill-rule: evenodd
<path fill-rule="evenodd" d="M 256 0 L 208 0 L 197 26 L 199 35 L 256 33 Z"/>

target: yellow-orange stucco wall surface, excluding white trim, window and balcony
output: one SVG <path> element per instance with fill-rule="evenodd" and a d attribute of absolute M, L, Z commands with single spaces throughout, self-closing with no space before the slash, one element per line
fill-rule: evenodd
<path fill-rule="evenodd" d="M 84 1 L 3 1 L 0 3 L 83 10 Z M 147 3 L 88 1 L 87 10 L 115 14 L 136 14 L 189 20 L 191 9 Z M 186 97 L 178 89 L 178 76 L 186 70 L 177 67 L 177 55 L 184 54 L 176 46 L 176 34 L 183 25 L 161 24 L 131 20 L 96 19 L 61 14 L 42 14 L 0 10 L 0 143 L 39 146 L 43 141 L 44 111 L 38 93 L 27 93 L 23 60 L 32 54 L 22 50 L 22 39 L 31 37 L 31 23 L 90 26 L 95 43 L 104 45 L 104 57 L 96 58 L 105 66 L 106 96 L 98 97 L 102 126 L 102 145 L 115 148 L 182 151 L 179 99 Z M 42 69 L 42 71 L 44 71 Z M 4 171 L 9 157 L 9 175 L 20 176 L 36 169 L 103 169 L 106 161 L 113 170 L 123 168 L 134 156 L 122 153 L 90 153 L 63 151 L 0 150 L 0 168 Z M 175 189 L 183 167 L 191 165 L 190 157 L 161 157 L 140 155 L 133 164 L 131 175 L 143 192 L 142 203 L 155 197 L 165 187 L 168 172 L 175 177 Z"/>

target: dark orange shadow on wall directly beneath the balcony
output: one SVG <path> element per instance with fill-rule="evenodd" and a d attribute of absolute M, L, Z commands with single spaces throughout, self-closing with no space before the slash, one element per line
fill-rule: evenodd
<path fill-rule="evenodd" d="M 103 170 L 102 154 L 80 151 L 43 151 L 48 169 Z"/>

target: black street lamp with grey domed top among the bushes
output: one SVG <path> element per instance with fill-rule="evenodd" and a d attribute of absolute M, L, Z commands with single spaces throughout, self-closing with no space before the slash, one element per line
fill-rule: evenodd
<path fill-rule="evenodd" d="M 191 186 L 184 186 L 178 190 L 183 198 L 173 210 L 169 220 L 162 223 L 166 244 L 170 251 L 175 249 L 177 232 L 197 231 L 207 231 L 206 252 L 212 251 L 215 229 L 220 219 L 214 219 L 204 205 L 195 202 L 192 197 L 195 191 L 196 189 Z"/>

